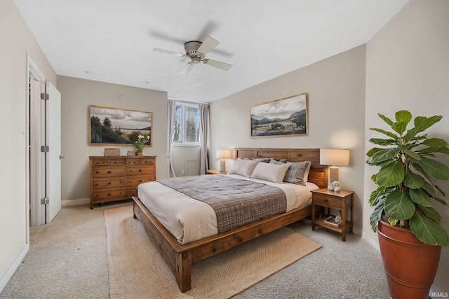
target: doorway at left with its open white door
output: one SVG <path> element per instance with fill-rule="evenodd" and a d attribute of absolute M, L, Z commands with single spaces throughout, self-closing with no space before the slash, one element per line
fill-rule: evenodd
<path fill-rule="evenodd" d="M 50 223 L 61 209 L 60 92 L 29 57 L 28 77 L 27 211 L 35 226 Z"/>

